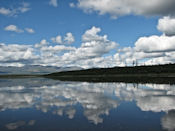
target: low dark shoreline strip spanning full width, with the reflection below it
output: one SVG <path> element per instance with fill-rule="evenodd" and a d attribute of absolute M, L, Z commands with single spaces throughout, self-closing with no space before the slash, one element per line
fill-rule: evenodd
<path fill-rule="evenodd" d="M 47 78 L 71 82 L 124 82 L 124 83 L 152 83 L 175 84 L 175 74 L 128 74 L 128 75 L 0 75 L 0 79 Z"/>

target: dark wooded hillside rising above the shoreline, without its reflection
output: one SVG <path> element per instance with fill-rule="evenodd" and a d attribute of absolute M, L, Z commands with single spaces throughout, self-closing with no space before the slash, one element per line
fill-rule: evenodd
<path fill-rule="evenodd" d="M 119 74 L 164 74 L 175 73 L 175 64 L 154 65 L 154 66 L 135 66 L 135 67 L 114 67 L 96 68 L 80 71 L 66 71 L 52 73 L 49 75 L 119 75 Z"/>

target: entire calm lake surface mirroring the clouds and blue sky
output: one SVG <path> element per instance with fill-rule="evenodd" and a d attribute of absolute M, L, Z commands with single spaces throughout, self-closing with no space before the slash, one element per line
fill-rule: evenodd
<path fill-rule="evenodd" d="M 175 130 L 175 85 L 0 79 L 0 131 Z"/>

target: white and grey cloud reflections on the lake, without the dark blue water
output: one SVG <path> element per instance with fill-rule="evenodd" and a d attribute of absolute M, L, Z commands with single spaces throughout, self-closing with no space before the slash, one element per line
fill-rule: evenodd
<path fill-rule="evenodd" d="M 125 83 L 76 83 L 35 78 L 0 81 L 0 111 L 34 108 L 73 119 L 81 105 L 86 119 L 98 125 L 122 102 L 135 102 L 141 111 L 165 112 L 163 129 L 175 130 L 175 86 Z M 0 113 L 1 113 L 0 112 Z M 6 124 L 12 130 L 35 120 Z"/>

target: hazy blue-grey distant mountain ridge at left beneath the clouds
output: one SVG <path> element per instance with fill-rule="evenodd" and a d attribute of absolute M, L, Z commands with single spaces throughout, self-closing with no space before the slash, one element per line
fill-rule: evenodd
<path fill-rule="evenodd" d="M 48 74 L 61 71 L 82 70 L 81 67 L 55 67 L 55 66 L 40 66 L 40 65 L 27 65 L 23 67 L 3 67 L 0 66 L 0 75 L 6 74 Z"/>

